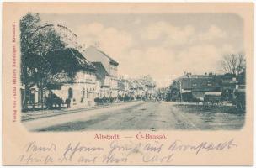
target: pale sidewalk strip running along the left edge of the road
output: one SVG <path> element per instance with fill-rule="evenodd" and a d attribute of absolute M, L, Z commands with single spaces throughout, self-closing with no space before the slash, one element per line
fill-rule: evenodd
<path fill-rule="evenodd" d="M 132 101 L 136 102 L 136 101 Z M 53 109 L 53 110 L 40 110 L 40 111 L 29 111 L 29 112 L 23 112 L 21 113 L 21 121 L 29 121 L 34 120 L 38 118 L 48 118 L 56 115 L 62 115 L 66 113 L 77 113 L 82 111 L 88 111 L 93 109 L 99 109 L 99 108 L 109 108 L 114 106 L 119 106 L 121 104 L 126 104 L 130 102 L 115 102 L 111 104 L 104 104 L 104 105 L 98 105 L 93 107 L 83 107 L 82 105 L 73 106 L 71 108 L 62 108 L 62 109 Z"/>

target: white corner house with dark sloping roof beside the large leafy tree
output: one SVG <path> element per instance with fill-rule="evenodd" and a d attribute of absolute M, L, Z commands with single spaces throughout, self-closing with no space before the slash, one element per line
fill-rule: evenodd
<path fill-rule="evenodd" d="M 63 101 L 67 98 L 71 100 L 71 105 L 81 105 L 84 107 L 94 106 L 94 98 L 96 97 L 96 68 L 91 62 L 79 53 L 77 50 L 70 50 L 69 55 L 79 55 L 80 70 L 76 73 L 73 80 L 67 80 L 67 75 L 63 72 L 60 80 L 53 81 L 60 87 L 51 88 L 57 97 Z M 67 78 L 67 79 L 65 79 Z"/>

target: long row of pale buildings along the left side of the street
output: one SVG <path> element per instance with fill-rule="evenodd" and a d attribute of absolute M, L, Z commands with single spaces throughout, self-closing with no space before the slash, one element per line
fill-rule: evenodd
<path fill-rule="evenodd" d="M 47 97 L 54 96 L 63 102 L 69 99 L 71 105 L 90 107 L 95 105 L 95 98 L 111 97 L 118 102 L 119 97 L 152 97 L 155 92 L 156 84 L 150 76 L 136 79 L 118 76 L 119 63 L 94 46 L 79 51 L 69 48 L 65 55 L 83 55 L 83 59 L 78 59 L 83 68 L 76 73 L 75 79 L 70 80 L 62 72 L 61 77 L 47 86 L 43 97 L 36 86 L 31 87 L 26 94 L 26 104 L 35 107 L 45 102 Z M 21 93 L 24 94 L 24 88 L 21 88 Z"/>

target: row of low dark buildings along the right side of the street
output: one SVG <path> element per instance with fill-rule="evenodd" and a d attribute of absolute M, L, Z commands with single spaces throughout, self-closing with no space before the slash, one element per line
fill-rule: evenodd
<path fill-rule="evenodd" d="M 232 100 L 233 93 L 245 92 L 245 72 L 234 74 L 193 75 L 185 72 L 184 76 L 175 79 L 169 87 L 169 99 L 173 101 L 192 102 L 195 99 L 204 100 L 205 96 L 221 97 L 222 100 Z"/>

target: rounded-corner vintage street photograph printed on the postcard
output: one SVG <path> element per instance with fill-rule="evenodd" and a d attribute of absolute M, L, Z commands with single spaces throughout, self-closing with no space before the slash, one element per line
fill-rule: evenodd
<path fill-rule="evenodd" d="M 243 26 L 235 13 L 26 13 L 21 122 L 34 132 L 243 129 Z"/>

